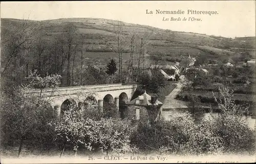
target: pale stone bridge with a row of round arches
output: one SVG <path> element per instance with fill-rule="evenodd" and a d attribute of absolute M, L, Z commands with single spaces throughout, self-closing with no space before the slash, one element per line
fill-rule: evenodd
<path fill-rule="evenodd" d="M 67 109 L 67 105 L 79 104 L 85 100 L 93 100 L 98 102 L 99 108 L 103 108 L 103 102 L 115 104 L 117 110 L 119 103 L 129 102 L 137 88 L 137 84 L 107 84 L 93 86 L 78 87 L 60 87 L 57 92 L 52 90 L 44 90 L 42 94 L 49 97 L 57 117 L 60 116 L 62 110 Z M 40 90 L 35 90 L 34 94 L 40 94 Z M 88 96 L 91 95 L 91 96 Z"/>

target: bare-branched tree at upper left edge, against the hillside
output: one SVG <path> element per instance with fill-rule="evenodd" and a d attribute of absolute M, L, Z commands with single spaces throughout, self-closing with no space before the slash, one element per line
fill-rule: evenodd
<path fill-rule="evenodd" d="M 39 24 L 24 19 L 3 26 L 1 31 L 1 85 L 20 85 L 29 74 L 30 50 Z"/>

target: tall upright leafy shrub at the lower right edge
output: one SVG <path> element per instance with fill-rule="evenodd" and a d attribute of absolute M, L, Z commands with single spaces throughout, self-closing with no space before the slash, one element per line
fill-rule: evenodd
<path fill-rule="evenodd" d="M 215 133 L 223 140 L 224 151 L 255 152 L 255 129 L 250 129 L 245 122 L 249 106 L 231 100 L 233 91 L 227 87 L 219 87 L 219 93 L 224 98 L 217 100 L 215 97 L 220 115 L 213 123 Z"/>

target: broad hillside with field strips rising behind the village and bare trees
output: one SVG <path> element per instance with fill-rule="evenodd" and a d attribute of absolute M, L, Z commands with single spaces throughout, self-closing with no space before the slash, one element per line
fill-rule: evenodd
<path fill-rule="evenodd" d="M 251 37 L 249 39 L 246 39 L 246 37 L 231 39 L 208 36 L 205 34 L 164 30 L 148 25 L 121 23 L 122 30 L 120 31 L 120 36 L 122 40 L 120 43 L 123 49 L 123 67 L 127 66 L 131 58 L 131 37 L 133 34 L 135 35 L 134 45 L 136 52 L 133 58 L 134 65 L 138 62 L 141 38 L 144 39 L 143 41 L 147 42 L 144 48 L 147 54 L 146 56 L 148 56 L 148 54 L 154 54 L 157 51 L 174 58 L 181 58 L 181 56 L 187 56 L 188 54 L 193 58 L 197 58 L 201 54 L 207 57 L 207 59 L 222 60 L 223 58 L 238 56 L 243 51 L 248 51 L 253 59 L 255 56 L 255 39 L 253 40 Z M 116 20 L 100 18 L 61 18 L 43 21 L 2 18 L 2 70 L 9 61 L 9 51 L 11 48 L 8 48 L 8 46 L 14 43 L 19 45 L 17 40 L 26 39 L 26 37 L 18 37 L 19 35 L 25 36 L 26 33 L 29 33 L 29 31 L 23 30 L 24 26 L 30 28 L 37 27 L 37 30 L 33 34 L 30 34 L 29 39 L 27 38 L 29 43 L 28 40 L 26 40 L 26 44 L 22 44 L 19 51 L 15 51 L 15 53 L 24 53 L 26 56 L 28 51 L 23 52 L 22 49 L 27 50 L 28 46 L 30 47 L 29 53 L 31 57 L 24 59 L 30 60 L 28 64 L 24 66 L 27 67 L 26 71 L 36 69 L 38 65 L 50 65 L 46 66 L 46 68 L 42 68 L 42 71 L 44 70 L 45 72 L 48 72 L 48 69 L 59 70 L 59 68 L 57 68 L 59 65 L 61 65 L 61 71 L 64 72 L 67 71 L 64 69 L 67 65 L 73 65 L 74 68 L 72 69 L 77 70 L 79 69 L 82 58 L 86 60 L 84 64 L 90 63 L 100 67 L 104 67 L 111 58 L 116 59 L 118 63 L 118 54 L 117 50 L 115 50 L 117 48 L 117 24 L 118 21 Z M 67 29 L 71 26 L 76 29 L 74 36 L 68 34 Z M 68 44 L 69 39 L 72 40 L 70 47 Z M 73 48 L 73 46 L 75 48 Z M 66 60 L 63 59 L 64 57 L 62 60 L 59 59 L 60 53 L 64 54 L 64 52 L 65 58 L 72 57 L 74 60 Z M 69 56 L 67 56 L 67 54 L 69 54 Z M 30 64 L 31 60 L 33 63 Z M 56 61 L 59 64 L 52 66 Z M 165 63 L 168 62 L 166 61 Z M 15 61 L 12 61 L 12 64 L 17 67 Z M 146 58 L 145 66 L 148 67 L 151 64 L 152 61 Z"/>

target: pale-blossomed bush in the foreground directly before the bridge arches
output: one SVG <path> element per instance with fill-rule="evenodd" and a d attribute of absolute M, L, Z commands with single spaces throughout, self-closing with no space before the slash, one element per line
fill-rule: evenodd
<path fill-rule="evenodd" d="M 78 148 L 114 154 L 130 151 L 129 136 L 132 128 L 129 121 L 92 117 L 87 115 L 84 108 L 74 106 L 65 111 L 60 122 L 52 122 L 50 125 L 55 128 L 56 140 L 62 141 L 64 147 L 70 144 L 75 151 Z"/>

